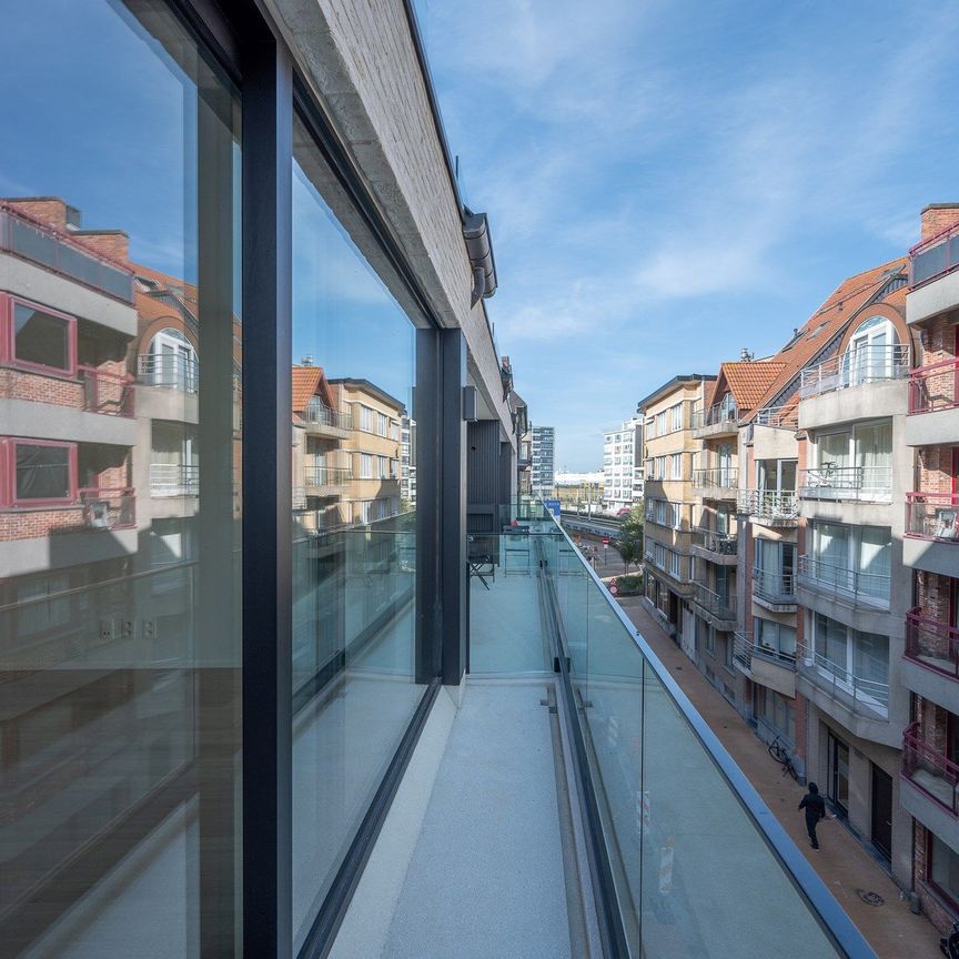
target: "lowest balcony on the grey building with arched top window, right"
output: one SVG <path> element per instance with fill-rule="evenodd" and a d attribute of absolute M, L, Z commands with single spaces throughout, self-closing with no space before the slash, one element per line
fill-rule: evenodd
<path fill-rule="evenodd" d="M 797 688 L 854 736 L 888 746 L 898 745 L 890 729 L 889 684 L 856 676 L 842 666 L 800 646 L 797 650 Z"/>

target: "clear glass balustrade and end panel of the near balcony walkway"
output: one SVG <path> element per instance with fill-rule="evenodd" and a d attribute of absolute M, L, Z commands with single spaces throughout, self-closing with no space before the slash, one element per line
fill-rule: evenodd
<path fill-rule="evenodd" d="M 569 537 L 552 521 L 528 526 L 466 544 L 471 672 L 558 668 L 599 921 L 617 955 L 788 956 L 797 940 L 817 956 L 871 955 Z M 735 835 L 735 849 L 704 822 Z M 739 895 L 717 910 L 716 877 L 733 870 Z M 757 923 L 760 900 L 783 921 Z"/>

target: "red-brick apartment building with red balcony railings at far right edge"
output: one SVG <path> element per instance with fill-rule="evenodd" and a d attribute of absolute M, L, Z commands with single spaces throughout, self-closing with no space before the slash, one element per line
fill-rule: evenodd
<path fill-rule="evenodd" d="M 959 919 L 959 204 L 922 211 L 906 321 L 918 363 L 905 427 L 913 463 L 902 553 L 913 605 L 900 667 L 911 713 L 899 795 L 912 822 L 916 891 L 947 931 Z"/>

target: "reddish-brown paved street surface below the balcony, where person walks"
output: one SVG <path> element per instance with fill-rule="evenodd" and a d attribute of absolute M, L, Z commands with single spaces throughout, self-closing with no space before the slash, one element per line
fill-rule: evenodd
<path fill-rule="evenodd" d="M 899 898 L 899 887 L 838 821 L 824 821 L 818 828 L 820 850 L 809 848 L 802 814 L 796 811 L 806 790 L 781 775 L 765 744 L 649 616 L 642 598 L 624 597 L 619 603 L 876 955 L 880 959 L 939 956 L 939 933 L 932 925 L 909 911 L 908 902 Z M 868 905 L 860 890 L 876 892 L 885 902 Z"/>

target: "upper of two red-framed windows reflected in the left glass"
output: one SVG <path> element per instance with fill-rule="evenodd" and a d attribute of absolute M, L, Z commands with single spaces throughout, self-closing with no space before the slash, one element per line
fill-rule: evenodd
<path fill-rule="evenodd" d="M 77 317 L 0 293 L 0 361 L 54 376 L 77 375 Z"/>

